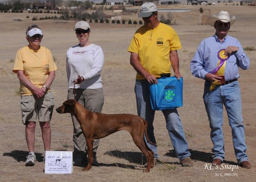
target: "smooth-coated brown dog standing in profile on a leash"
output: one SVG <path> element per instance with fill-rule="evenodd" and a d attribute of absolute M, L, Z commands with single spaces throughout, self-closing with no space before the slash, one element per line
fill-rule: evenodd
<path fill-rule="evenodd" d="M 142 117 L 133 114 L 101 114 L 91 112 L 85 109 L 76 100 L 70 99 L 63 102 L 63 105 L 56 108 L 58 113 L 73 113 L 81 125 L 84 137 L 87 142 L 88 165 L 83 168 L 83 171 L 90 170 L 93 163 L 93 139 L 104 138 L 116 131 L 128 131 L 134 143 L 143 152 L 147 158 L 147 168 L 145 172 L 149 172 L 154 166 L 154 152 L 148 148 L 145 137 L 151 145 L 147 135 L 148 123 Z"/>

